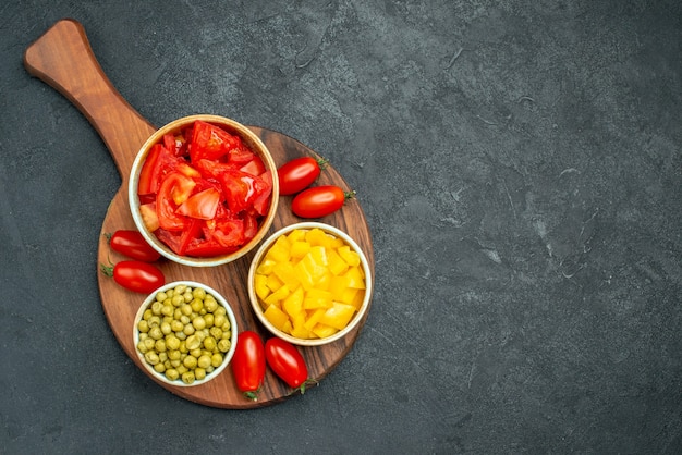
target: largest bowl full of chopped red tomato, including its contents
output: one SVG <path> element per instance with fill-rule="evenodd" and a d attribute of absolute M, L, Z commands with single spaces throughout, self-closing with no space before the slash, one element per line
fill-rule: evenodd
<path fill-rule="evenodd" d="M 131 170 L 130 208 L 159 254 L 215 267 L 251 251 L 279 202 L 275 161 L 248 127 L 219 115 L 190 115 L 162 126 Z"/>

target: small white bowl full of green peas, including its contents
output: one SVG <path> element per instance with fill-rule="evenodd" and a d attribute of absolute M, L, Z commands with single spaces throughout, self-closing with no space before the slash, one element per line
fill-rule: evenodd
<path fill-rule="evenodd" d="M 196 386 L 217 378 L 230 364 L 236 333 L 234 312 L 216 290 L 176 281 L 142 303 L 133 341 L 137 358 L 153 378 Z"/>

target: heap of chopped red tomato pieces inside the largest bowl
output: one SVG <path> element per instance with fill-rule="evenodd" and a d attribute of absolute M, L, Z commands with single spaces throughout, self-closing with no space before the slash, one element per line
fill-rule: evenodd
<path fill-rule="evenodd" d="M 273 175 L 239 136 L 197 121 L 163 136 L 147 159 L 141 212 L 144 208 L 147 229 L 173 251 L 224 255 L 257 234 Z"/>

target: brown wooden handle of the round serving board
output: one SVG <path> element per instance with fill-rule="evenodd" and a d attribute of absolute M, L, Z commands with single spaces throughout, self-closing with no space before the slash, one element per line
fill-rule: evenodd
<path fill-rule="evenodd" d="M 57 22 L 24 53 L 24 66 L 34 77 L 62 94 L 87 118 L 113 157 L 122 188 L 145 140 L 156 131 L 105 75 L 83 25 Z"/>

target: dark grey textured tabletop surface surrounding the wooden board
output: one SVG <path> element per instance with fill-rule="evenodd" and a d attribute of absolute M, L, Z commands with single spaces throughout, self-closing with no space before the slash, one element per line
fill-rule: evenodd
<path fill-rule="evenodd" d="M 0 8 L 0 452 L 682 451 L 681 3 L 15 3 Z M 153 123 L 280 131 L 357 190 L 374 305 L 318 388 L 206 408 L 117 344 L 96 245 L 120 177 L 22 65 L 66 16 Z"/>

